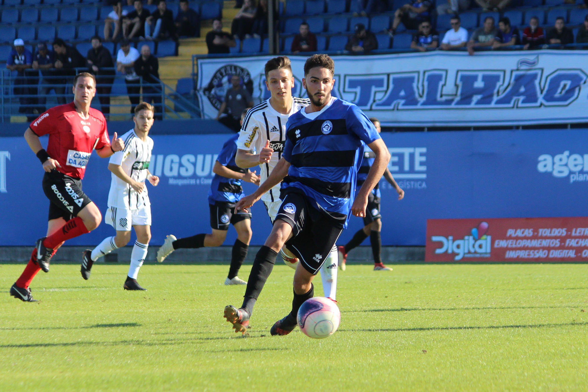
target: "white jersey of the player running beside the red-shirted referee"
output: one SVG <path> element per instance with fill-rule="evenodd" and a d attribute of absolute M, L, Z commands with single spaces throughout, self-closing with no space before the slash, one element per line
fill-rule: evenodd
<path fill-rule="evenodd" d="M 109 163 L 121 165 L 123 172 L 137 182 L 145 182 L 147 178 L 149 161 L 151 161 L 151 150 L 153 139 L 147 136 L 145 142 L 141 140 L 131 129 L 121 136 L 125 142 L 122 151 L 115 152 Z M 149 195 L 147 187 L 141 193 L 136 192 L 128 183 L 119 179 L 114 173 L 111 174 L 111 189 L 108 193 L 108 207 L 118 207 L 127 210 L 140 209 L 149 206 Z"/>

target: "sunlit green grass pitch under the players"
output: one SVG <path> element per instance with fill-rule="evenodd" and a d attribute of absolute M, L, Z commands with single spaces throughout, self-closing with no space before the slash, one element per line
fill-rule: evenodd
<path fill-rule="evenodd" d="M 1 391 L 586 391 L 588 265 L 350 264 L 339 272 L 339 331 L 269 336 L 292 301 L 278 264 L 248 337 L 222 317 L 243 286 L 226 265 L 55 264 L 8 289 L 24 264 L 0 264 Z M 250 265 L 242 268 L 246 279 Z M 322 294 L 320 278 L 315 294 Z"/>

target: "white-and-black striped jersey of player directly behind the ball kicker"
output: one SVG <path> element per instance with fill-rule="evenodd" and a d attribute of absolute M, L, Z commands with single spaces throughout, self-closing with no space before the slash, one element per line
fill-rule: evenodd
<path fill-rule="evenodd" d="M 300 109 L 310 105 L 308 98 L 293 97 L 292 109 L 287 115 L 278 113 L 272 108 L 268 100 L 264 100 L 247 112 L 243 120 L 243 126 L 237 140 L 237 148 L 240 150 L 260 150 L 269 140 L 269 146 L 273 149 L 272 159 L 269 163 L 263 163 L 261 167 L 261 183 L 263 183 L 276 167 L 278 160 L 282 158 L 284 143 L 286 142 L 286 123 L 288 118 Z M 275 202 L 280 199 L 280 184 L 266 192 L 261 199 L 264 202 Z"/>

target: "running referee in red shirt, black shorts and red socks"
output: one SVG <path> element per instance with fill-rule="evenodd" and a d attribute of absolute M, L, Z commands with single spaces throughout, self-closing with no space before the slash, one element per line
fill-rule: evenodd
<path fill-rule="evenodd" d="M 73 91 L 74 102 L 47 110 L 25 132 L 26 142 L 43 164 L 43 191 L 50 203 L 47 236 L 37 240 L 31 260 L 10 289 L 11 296 L 22 301 L 34 301 L 29 284 L 39 270 L 49 272 L 51 257 L 66 240 L 100 225 L 100 210 L 82 192 L 83 174 L 92 150 L 108 158 L 125 146 L 116 138 L 116 132 L 111 145 L 104 116 L 90 108 L 96 78 L 87 72 L 78 73 Z M 43 135 L 49 135 L 47 150 L 39 140 Z"/>

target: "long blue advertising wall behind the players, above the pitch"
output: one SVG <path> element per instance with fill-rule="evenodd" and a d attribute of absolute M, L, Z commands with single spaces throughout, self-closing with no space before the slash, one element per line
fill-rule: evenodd
<path fill-rule="evenodd" d="M 383 133 L 392 153 L 390 171 L 406 197 L 398 201 L 395 190 L 380 182 L 382 243 L 425 245 L 427 219 L 588 216 L 585 135 L 585 129 Z M 213 162 L 227 138 L 153 136 L 150 170 L 161 183 L 148 185 L 152 244 L 161 244 L 166 234 L 209 232 L 206 196 Z M 102 212 L 111 181 L 107 166 L 108 159 L 93 154 L 83 180 L 83 190 Z M 0 138 L 0 246 L 32 246 L 45 234 L 48 200 L 42 176 L 22 137 Z M 253 189 L 245 185 L 246 193 Z M 263 244 L 271 226 L 261 202 L 253 207 L 252 226 L 252 244 Z M 362 220 L 351 217 L 339 243 L 360 227 Z M 112 227 L 101 223 L 68 244 L 95 245 L 112 234 Z M 229 229 L 226 244 L 235 238 Z"/>

